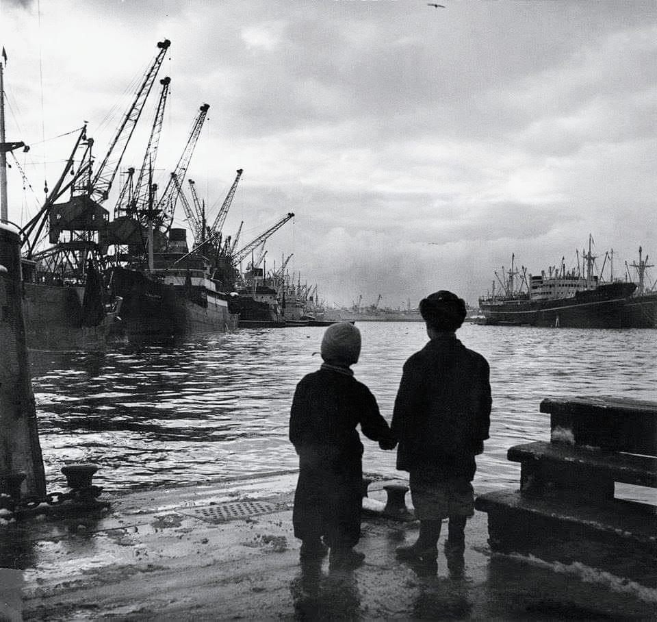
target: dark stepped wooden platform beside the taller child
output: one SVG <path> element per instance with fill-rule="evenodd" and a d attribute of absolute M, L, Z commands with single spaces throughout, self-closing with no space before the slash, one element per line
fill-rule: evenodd
<path fill-rule="evenodd" d="M 508 450 L 519 490 L 478 497 L 491 549 L 580 562 L 657 586 L 657 404 L 544 400 L 550 443 Z M 654 503 L 615 497 L 617 483 L 654 491 Z"/>

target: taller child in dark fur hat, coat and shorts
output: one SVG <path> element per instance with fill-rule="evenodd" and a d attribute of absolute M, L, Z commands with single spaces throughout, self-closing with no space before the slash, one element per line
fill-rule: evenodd
<path fill-rule="evenodd" d="M 489 437 L 489 365 L 456 338 L 466 315 L 461 298 L 441 290 L 420 302 L 420 313 L 430 341 L 404 364 L 391 423 L 420 536 L 397 556 L 435 573 L 441 521 L 449 518 L 445 551 L 450 572 L 459 574 L 465 521 L 474 514 L 474 457 Z"/>

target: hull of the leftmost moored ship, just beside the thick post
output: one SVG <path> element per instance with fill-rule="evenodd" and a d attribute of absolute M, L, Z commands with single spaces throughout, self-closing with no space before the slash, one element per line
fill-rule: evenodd
<path fill-rule="evenodd" d="M 103 351 L 118 306 L 103 314 L 100 323 L 85 325 L 84 288 L 23 283 L 23 317 L 27 347 L 44 351 Z"/>

